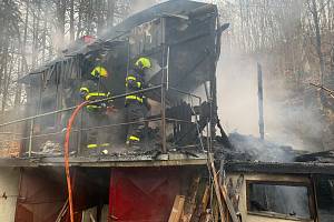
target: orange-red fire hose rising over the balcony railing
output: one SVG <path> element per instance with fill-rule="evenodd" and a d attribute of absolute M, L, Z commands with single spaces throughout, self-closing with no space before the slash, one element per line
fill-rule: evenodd
<path fill-rule="evenodd" d="M 70 169 L 69 169 L 69 138 L 72 124 L 75 122 L 75 119 L 79 111 L 88 103 L 88 101 L 82 102 L 79 104 L 73 113 L 71 114 L 70 119 L 67 123 L 67 131 L 65 135 L 65 144 L 63 144 L 63 160 L 65 160 L 65 172 L 66 172 L 66 180 L 67 180 L 67 190 L 68 190 L 68 202 L 69 202 L 69 209 L 70 209 L 70 222 L 75 222 L 75 209 L 73 209 L 73 196 L 72 196 L 72 184 L 71 184 L 71 178 L 70 178 Z"/>

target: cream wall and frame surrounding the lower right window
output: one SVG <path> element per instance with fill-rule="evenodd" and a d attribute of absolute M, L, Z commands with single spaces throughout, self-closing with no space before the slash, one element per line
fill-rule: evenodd
<path fill-rule="evenodd" d="M 237 181 L 244 176 L 243 182 L 240 183 L 240 188 L 236 189 Z M 284 175 L 284 174 L 242 174 L 242 173 L 228 173 L 227 181 L 232 181 L 233 184 L 233 192 L 239 190 L 239 202 L 237 205 L 237 212 L 240 213 L 243 222 L 289 222 L 289 221 L 303 221 L 303 222 L 311 222 L 314 220 L 292 220 L 292 219 L 278 219 L 272 218 L 268 215 L 257 215 L 248 213 L 247 211 L 247 189 L 246 189 L 246 181 L 278 181 L 278 182 L 295 182 L 295 183 L 308 183 L 308 179 L 306 176 L 298 176 L 298 175 Z M 228 185 L 227 185 L 228 189 Z M 230 189 L 230 188 L 229 188 Z M 232 192 L 229 192 L 230 194 Z M 232 198 L 233 202 L 235 201 Z"/>

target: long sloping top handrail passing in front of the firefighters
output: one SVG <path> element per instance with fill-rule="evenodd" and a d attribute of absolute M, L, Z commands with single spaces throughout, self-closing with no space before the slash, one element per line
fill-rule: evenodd
<path fill-rule="evenodd" d="M 107 99 L 91 101 L 88 104 L 95 104 L 95 103 L 98 103 L 98 102 L 106 102 L 106 101 L 109 101 L 109 100 L 117 100 L 117 99 L 125 98 L 125 97 L 130 95 L 130 94 L 149 92 L 149 91 L 153 91 L 153 90 L 156 90 L 156 89 L 160 89 L 161 87 L 163 85 L 159 84 L 159 85 L 155 85 L 155 87 L 147 88 L 147 89 L 144 89 L 144 90 L 138 90 L 138 91 L 130 92 L 130 93 L 124 93 L 124 94 L 115 95 L 115 97 L 107 98 Z M 47 117 L 47 115 L 50 115 L 50 114 L 57 114 L 57 113 L 60 113 L 60 112 L 70 111 L 70 110 L 76 109 L 78 105 L 66 108 L 66 109 L 62 109 L 62 110 L 52 111 L 52 112 L 46 112 L 46 113 L 42 113 L 42 114 L 37 114 L 37 115 L 29 117 L 29 118 L 14 120 L 14 121 L 11 121 L 11 122 L 6 122 L 6 123 L 0 124 L 0 128 L 6 127 L 6 125 L 10 125 L 10 124 L 13 124 L 13 123 L 24 122 L 24 121 L 32 120 L 32 119 L 36 119 L 36 118 L 41 118 L 41 117 Z"/>

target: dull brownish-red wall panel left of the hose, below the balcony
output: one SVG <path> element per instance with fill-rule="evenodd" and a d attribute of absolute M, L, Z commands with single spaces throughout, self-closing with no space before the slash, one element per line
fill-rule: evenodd
<path fill-rule="evenodd" d="M 22 168 L 14 221 L 56 221 L 66 200 L 63 168 Z"/>

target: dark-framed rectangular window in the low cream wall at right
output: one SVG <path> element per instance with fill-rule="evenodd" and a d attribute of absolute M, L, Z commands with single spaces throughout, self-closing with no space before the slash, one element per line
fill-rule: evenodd
<path fill-rule="evenodd" d="M 248 214 L 279 219 L 312 219 L 306 184 L 247 181 Z"/>

